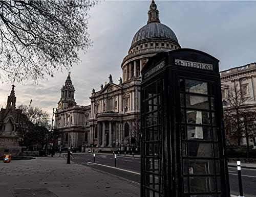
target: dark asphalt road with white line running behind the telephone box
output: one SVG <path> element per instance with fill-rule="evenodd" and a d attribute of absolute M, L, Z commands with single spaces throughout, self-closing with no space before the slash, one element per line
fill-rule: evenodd
<path fill-rule="evenodd" d="M 72 161 L 77 164 L 90 165 L 98 170 L 121 177 L 127 181 L 140 183 L 140 158 L 117 156 L 117 168 L 114 168 L 113 155 L 98 155 L 95 156 L 93 163 L 93 155 L 91 154 L 73 154 Z M 108 167 L 110 166 L 110 167 Z M 236 167 L 228 167 L 230 192 L 233 195 L 239 195 L 238 174 Z M 242 183 L 244 196 L 256 196 L 256 169 L 242 168 Z"/>

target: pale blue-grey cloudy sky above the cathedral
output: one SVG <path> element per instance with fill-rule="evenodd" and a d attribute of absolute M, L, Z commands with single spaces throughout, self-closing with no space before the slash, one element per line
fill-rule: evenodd
<path fill-rule="evenodd" d="M 249 1 L 155 1 L 161 23 L 172 29 L 182 48 L 195 48 L 220 60 L 220 70 L 256 62 L 256 2 Z M 135 33 L 146 24 L 151 1 L 102 1 L 89 11 L 93 45 L 80 53 L 71 80 L 78 105 L 90 105 L 92 89 L 122 77 L 121 62 Z M 52 115 L 68 70 L 54 78 L 15 84 L 17 105 L 40 107 Z M 6 106 L 11 85 L 0 84 L 0 107 Z"/>

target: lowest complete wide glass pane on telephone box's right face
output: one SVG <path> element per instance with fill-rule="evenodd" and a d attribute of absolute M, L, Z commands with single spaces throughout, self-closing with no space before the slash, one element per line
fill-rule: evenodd
<path fill-rule="evenodd" d="M 189 177 L 190 192 L 212 192 L 216 190 L 214 177 Z"/>

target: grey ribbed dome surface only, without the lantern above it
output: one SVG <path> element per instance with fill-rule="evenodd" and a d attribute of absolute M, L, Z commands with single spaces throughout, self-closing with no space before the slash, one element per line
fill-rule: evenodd
<path fill-rule="evenodd" d="M 175 33 L 169 27 L 160 22 L 150 22 L 140 28 L 134 35 L 132 45 L 141 40 L 151 38 L 169 39 L 173 42 L 179 43 Z"/>

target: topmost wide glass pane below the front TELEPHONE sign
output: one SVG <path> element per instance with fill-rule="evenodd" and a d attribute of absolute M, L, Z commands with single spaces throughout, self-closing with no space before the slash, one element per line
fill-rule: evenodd
<path fill-rule="evenodd" d="M 186 92 L 207 94 L 207 83 L 196 80 L 185 80 Z"/>

